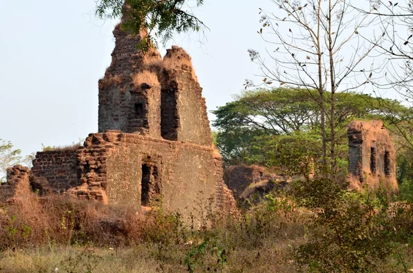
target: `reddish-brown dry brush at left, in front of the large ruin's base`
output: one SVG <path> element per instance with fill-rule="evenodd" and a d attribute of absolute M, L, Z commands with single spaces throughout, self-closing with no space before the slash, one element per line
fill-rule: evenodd
<path fill-rule="evenodd" d="M 68 196 L 37 197 L 5 204 L 0 213 L 0 249 L 56 243 L 127 245 L 141 226 L 135 212 Z"/>

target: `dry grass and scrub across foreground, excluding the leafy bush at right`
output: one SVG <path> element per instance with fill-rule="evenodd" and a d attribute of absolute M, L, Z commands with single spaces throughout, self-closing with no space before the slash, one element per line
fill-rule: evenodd
<path fill-rule="evenodd" d="M 399 229 L 412 230 L 410 212 L 394 220 Z M 142 219 L 127 208 L 32 195 L 0 211 L 0 272 L 309 272 L 295 251 L 311 241 L 314 215 L 291 200 L 268 199 L 239 218 L 207 215 L 211 228 L 196 230 L 161 209 Z M 413 268 L 410 244 L 398 251 L 378 272 Z"/>

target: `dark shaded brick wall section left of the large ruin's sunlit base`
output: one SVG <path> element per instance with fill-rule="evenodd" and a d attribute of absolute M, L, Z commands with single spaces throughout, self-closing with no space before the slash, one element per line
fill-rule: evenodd
<path fill-rule="evenodd" d="M 40 177 L 46 179 L 45 183 L 55 193 L 63 193 L 80 184 L 78 166 L 77 149 L 44 151 L 36 153 L 32 173 L 35 180 Z"/>

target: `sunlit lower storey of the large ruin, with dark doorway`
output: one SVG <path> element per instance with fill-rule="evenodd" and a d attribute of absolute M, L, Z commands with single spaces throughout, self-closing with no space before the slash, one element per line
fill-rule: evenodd
<path fill-rule="evenodd" d="M 184 217 L 198 217 L 209 205 L 235 210 L 222 180 L 222 160 L 211 146 L 107 131 L 90 134 L 78 151 L 81 185 L 67 192 L 78 198 L 132 208 L 162 201 Z"/>

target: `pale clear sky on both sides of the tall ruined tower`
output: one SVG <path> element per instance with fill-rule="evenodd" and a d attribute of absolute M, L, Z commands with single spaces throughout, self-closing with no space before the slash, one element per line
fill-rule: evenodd
<path fill-rule="evenodd" d="M 94 0 L 0 0 L 0 138 L 23 155 L 98 130 L 98 79 L 111 61 L 114 25 L 96 19 L 94 7 Z M 195 13 L 211 31 L 173 41 L 191 55 L 209 111 L 260 74 L 247 52 L 265 47 L 259 8 L 277 10 L 270 0 L 206 0 Z"/>

